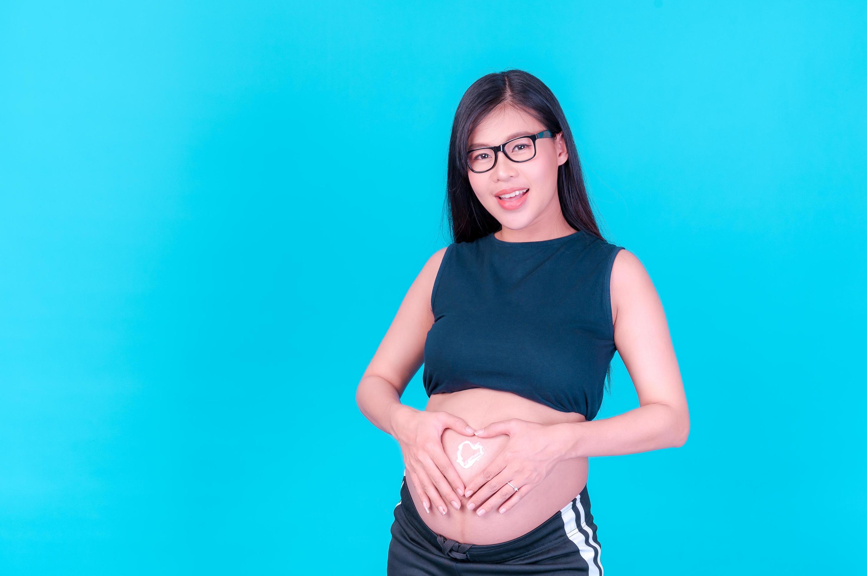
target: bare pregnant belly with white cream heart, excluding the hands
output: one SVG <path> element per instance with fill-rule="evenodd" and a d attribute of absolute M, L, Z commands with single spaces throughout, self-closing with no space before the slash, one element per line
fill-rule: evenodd
<path fill-rule="evenodd" d="M 557 411 L 511 392 L 485 388 L 433 394 L 425 410 L 447 411 L 460 416 L 476 430 L 509 418 L 540 424 L 585 420 L 582 414 Z M 466 444 L 467 441 L 469 444 Z M 446 456 L 465 485 L 492 463 L 508 442 L 509 437 L 505 435 L 490 438 L 467 437 L 451 429 L 447 429 L 442 435 Z M 427 526 L 436 534 L 466 544 L 497 544 L 530 532 L 577 496 L 586 482 L 587 458 L 572 458 L 557 463 L 551 474 L 505 514 L 499 514 L 498 509 L 493 509 L 486 510 L 485 515 L 479 516 L 476 514 L 478 509 L 466 509 L 469 499 L 463 497 L 460 499 L 460 510 L 449 506 L 447 514 L 441 515 L 433 507 L 429 514 L 425 512 L 413 482 L 407 477 L 407 487 L 415 508 L 419 510 L 421 519 Z M 447 499 L 444 497 L 443 500 Z"/>

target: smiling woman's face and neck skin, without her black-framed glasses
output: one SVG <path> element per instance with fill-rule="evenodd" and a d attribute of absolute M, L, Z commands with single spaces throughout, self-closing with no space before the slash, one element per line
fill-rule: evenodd
<path fill-rule="evenodd" d="M 514 107 L 498 107 L 470 134 L 467 150 L 480 146 L 499 146 L 517 136 L 537 134 L 546 130 L 538 120 Z M 490 151 L 489 151 L 490 152 Z M 526 162 L 512 162 L 497 152 L 497 163 L 482 173 L 467 170 L 470 185 L 479 202 L 503 228 L 521 230 L 528 226 L 544 230 L 565 222 L 557 198 L 557 167 L 568 159 L 563 134 L 556 139 L 536 140 L 536 156 Z M 524 190 L 512 199 L 499 196 Z"/>

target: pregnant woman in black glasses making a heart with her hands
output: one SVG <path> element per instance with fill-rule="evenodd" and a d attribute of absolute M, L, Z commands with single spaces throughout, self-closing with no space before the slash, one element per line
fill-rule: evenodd
<path fill-rule="evenodd" d="M 602 576 L 588 457 L 689 433 L 662 304 L 636 256 L 600 235 L 564 113 L 535 76 L 466 91 L 447 184 L 455 242 L 415 278 L 356 393 L 406 465 L 388 573 Z M 615 351 L 641 405 L 594 420 Z M 419 411 L 400 398 L 422 363 Z"/>

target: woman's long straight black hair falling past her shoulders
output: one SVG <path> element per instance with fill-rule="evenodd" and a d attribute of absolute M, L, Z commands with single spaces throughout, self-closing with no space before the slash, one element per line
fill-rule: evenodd
<path fill-rule="evenodd" d="M 482 120 L 499 106 L 512 106 L 530 114 L 562 139 L 569 154 L 557 167 L 557 197 L 566 222 L 602 240 L 596 225 L 590 198 L 584 186 L 581 161 L 569 122 L 551 89 L 533 74 L 519 69 L 486 74 L 466 89 L 454 113 L 452 137 L 448 144 L 446 203 L 453 242 L 473 242 L 502 228 L 502 224 L 479 202 L 467 177 L 469 165 L 466 146 L 470 134 Z M 608 366 L 608 390 L 611 385 L 611 365 Z"/>

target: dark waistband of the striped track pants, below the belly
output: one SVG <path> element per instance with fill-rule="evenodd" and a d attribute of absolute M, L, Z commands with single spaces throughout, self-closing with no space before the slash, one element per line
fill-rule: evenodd
<path fill-rule="evenodd" d="M 415 508 L 413 496 L 409 494 L 409 489 L 407 488 L 406 476 L 403 477 L 403 482 L 401 483 L 401 508 L 403 508 L 403 515 L 410 525 L 414 527 L 415 531 L 427 540 L 432 547 L 442 551 L 444 555 L 455 560 L 471 562 L 503 562 L 522 554 L 553 546 L 564 538 L 568 539 L 563 515 L 564 511 L 571 509 L 572 504 L 577 498 L 580 498 L 582 502 L 589 503 L 586 485 L 581 489 L 580 494 L 551 515 L 548 520 L 542 522 L 542 524 L 533 528 L 530 532 L 518 536 L 518 538 L 499 542 L 498 544 L 464 544 L 433 532 L 425 524 L 425 521 L 421 519 L 419 511 Z"/>

